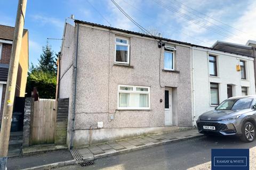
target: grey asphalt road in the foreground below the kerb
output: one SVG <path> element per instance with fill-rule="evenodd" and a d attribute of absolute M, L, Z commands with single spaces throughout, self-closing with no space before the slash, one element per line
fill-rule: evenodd
<path fill-rule="evenodd" d="M 236 137 L 203 137 L 147 148 L 95 160 L 94 165 L 59 169 L 211 169 L 211 149 L 250 149 L 250 169 L 256 169 L 256 141 L 244 143 Z"/>

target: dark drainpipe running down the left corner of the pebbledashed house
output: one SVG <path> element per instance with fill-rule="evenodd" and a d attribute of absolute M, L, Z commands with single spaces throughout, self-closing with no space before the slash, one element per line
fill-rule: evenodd
<path fill-rule="evenodd" d="M 76 79 L 77 79 L 77 51 L 78 51 L 78 32 L 79 32 L 79 23 L 77 23 L 77 37 L 76 37 L 76 58 L 75 58 L 75 81 L 74 81 L 74 95 L 73 95 L 73 113 L 72 113 L 72 129 L 70 137 L 70 149 L 73 149 L 73 139 L 75 133 L 75 112 L 76 112 Z"/>

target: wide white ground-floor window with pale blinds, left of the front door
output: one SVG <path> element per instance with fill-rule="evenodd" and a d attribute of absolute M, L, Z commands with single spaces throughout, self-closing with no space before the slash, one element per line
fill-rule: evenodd
<path fill-rule="evenodd" d="M 149 109 L 150 88 L 118 85 L 118 109 Z"/>

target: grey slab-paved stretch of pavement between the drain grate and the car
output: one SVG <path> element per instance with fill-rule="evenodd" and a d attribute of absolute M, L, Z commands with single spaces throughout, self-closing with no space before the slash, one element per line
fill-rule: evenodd
<path fill-rule="evenodd" d="M 190 138 L 200 136 L 202 136 L 202 134 L 198 133 L 196 129 L 190 129 L 155 135 L 146 135 L 143 137 L 125 139 L 121 141 L 114 141 L 101 145 L 94 145 L 90 147 L 77 149 L 77 151 L 79 152 L 77 160 L 94 160 L 109 155 L 154 147 L 166 143 L 178 142 L 181 140 L 187 140 Z"/>

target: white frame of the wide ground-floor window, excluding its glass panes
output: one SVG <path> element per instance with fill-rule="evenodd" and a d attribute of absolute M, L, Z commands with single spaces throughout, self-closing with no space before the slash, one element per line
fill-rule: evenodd
<path fill-rule="evenodd" d="M 121 87 L 132 87 L 132 90 L 121 90 Z M 148 91 L 136 91 L 136 88 L 147 88 Z M 119 107 L 119 93 L 148 94 L 148 107 Z M 117 90 L 117 109 L 118 110 L 149 110 L 150 109 L 150 87 L 148 87 L 148 86 L 131 86 L 131 85 L 118 84 L 118 90 Z"/>

